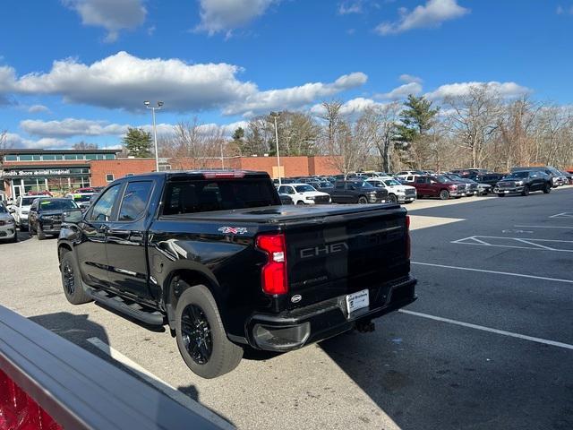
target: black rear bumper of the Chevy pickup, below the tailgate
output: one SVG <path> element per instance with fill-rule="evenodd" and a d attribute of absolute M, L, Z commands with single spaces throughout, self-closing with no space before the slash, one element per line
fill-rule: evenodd
<path fill-rule="evenodd" d="M 414 302 L 415 284 L 415 278 L 406 277 L 369 288 L 370 306 L 352 315 L 346 311 L 346 296 L 281 314 L 253 314 L 246 324 L 247 342 L 252 348 L 289 351 L 331 338 L 353 329 L 360 320 L 372 320 Z"/>

